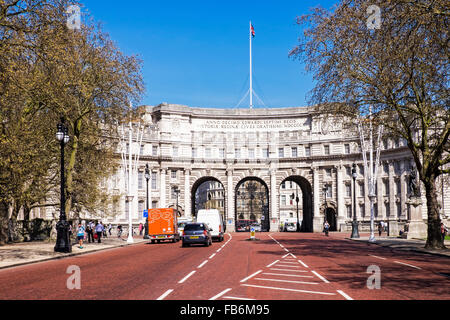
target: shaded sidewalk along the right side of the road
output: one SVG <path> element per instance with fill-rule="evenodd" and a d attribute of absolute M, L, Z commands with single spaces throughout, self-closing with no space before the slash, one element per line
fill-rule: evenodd
<path fill-rule="evenodd" d="M 402 239 L 397 237 L 387 237 L 387 236 L 381 236 L 375 237 L 375 242 L 370 243 L 369 242 L 369 236 L 364 234 L 361 235 L 359 239 L 352 239 L 348 236 L 345 237 L 347 240 L 352 241 L 359 241 L 359 242 L 366 242 L 368 244 L 374 244 L 382 247 L 388 247 L 396 250 L 405 250 L 405 251 L 413 251 L 418 253 L 426 253 L 426 254 L 433 254 L 433 255 L 439 255 L 444 257 L 450 257 L 450 241 L 445 240 L 444 244 L 447 247 L 445 250 L 428 250 L 425 249 L 425 240 L 419 240 L 419 239 Z"/>

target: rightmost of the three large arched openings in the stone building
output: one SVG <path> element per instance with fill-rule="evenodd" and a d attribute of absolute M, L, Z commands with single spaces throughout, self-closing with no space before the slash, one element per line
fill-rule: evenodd
<path fill-rule="evenodd" d="M 279 187 L 281 231 L 313 232 L 312 187 L 302 176 L 290 176 Z"/>

